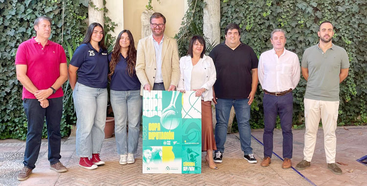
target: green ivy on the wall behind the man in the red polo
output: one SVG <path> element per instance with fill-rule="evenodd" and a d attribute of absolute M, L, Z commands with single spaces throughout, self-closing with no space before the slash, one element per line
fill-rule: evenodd
<path fill-rule="evenodd" d="M 75 40 L 79 43 L 88 26 L 85 23 L 88 0 L 0 0 L 0 14 L 0 139 L 24 140 L 27 128 L 22 102 L 23 86 L 17 80 L 14 65 L 17 48 L 35 36 L 33 22 L 42 15 L 52 19 L 51 41 L 59 44 L 63 41 L 65 44 Z M 74 121 L 73 106 L 64 107 L 62 136 L 69 134 L 70 124 Z M 43 136 L 46 137 L 46 126 Z"/>

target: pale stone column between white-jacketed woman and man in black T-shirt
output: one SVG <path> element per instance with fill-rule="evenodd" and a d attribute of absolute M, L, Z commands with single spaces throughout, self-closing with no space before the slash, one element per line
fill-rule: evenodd
<path fill-rule="evenodd" d="M 204 2 L 206 2 L 206 6 L 204 7 L 203 32 L 210 43 L 218 45 L 221 33 L 219 25 L 221 19 L 220 0 L 204 0 Z"/>

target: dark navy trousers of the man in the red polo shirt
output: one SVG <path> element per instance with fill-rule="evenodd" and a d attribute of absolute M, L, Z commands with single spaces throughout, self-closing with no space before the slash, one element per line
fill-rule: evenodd
<path fill-rule="evenodd" d="M 28 120 L 27 140 L 24 152 L 24 166 L 35 168 L 41 148 L 42 129 L 46 116 L 48 138 L 48 161 L 50 164 L 60 162 L 60 121 L 63 113 L 63 97 L 48 99 L 49 106 L 41 107 L 37 99 L 24 99 L 24 111 Z"/>

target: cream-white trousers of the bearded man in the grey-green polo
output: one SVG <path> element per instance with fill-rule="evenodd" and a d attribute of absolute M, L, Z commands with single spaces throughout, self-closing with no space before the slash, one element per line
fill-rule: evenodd
<path fill-rule="evenodd" d="M 321 101 L 304 99 L 304 117 L 306 132 L 304 134 L 304 160 L 311 162 L 314 154 L 317 131 L 320 119 L 324 135 L 326 163 L 335 163 L 336 136 L 339 101 Z"/>

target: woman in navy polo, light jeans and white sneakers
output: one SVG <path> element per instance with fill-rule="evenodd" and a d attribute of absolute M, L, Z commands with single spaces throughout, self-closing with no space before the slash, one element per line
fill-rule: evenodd
<path fill-rule="evenodd" d="M 115 116 L 115 137 L 120 164 L 135 163 L 134 154 L 138 148 L 139 125 L 142 97 L 140 82 L 135 65 L 137 50 L 129 30 L 121 31 L 116 40 L 114 51 L 110 53 L 110 96 Z M 126 136 L 128 121 L 129 138 Z"/>

